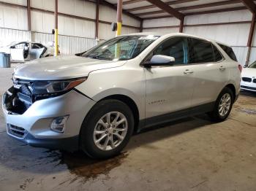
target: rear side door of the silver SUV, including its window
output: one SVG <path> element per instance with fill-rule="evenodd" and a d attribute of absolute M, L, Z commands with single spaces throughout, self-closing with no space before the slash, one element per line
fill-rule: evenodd
<path fill-rule="evenodd" d="M 190 38 L 190 63 L 195 72 L 192 106 L 210 106 L 228 81 L 227 66 L 222 54 L 211 42 Z"/>

